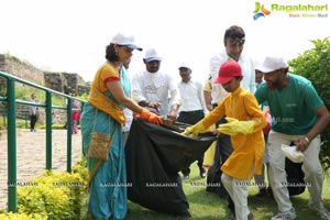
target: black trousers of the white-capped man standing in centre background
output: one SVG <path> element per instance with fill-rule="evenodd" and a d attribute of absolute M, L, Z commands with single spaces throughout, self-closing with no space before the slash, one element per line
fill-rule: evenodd
<path fill-rule="evenodd" d="M 199 122 L 201 119 L 204 119 L 205 114 L 202 110 L 197 110 L 197 111 L 182 111 L 179 113 L 179 117 L 177 118 L 178 122 L 183 122 L 186 124 L 196 124 Z M 204 154 L 200 155 L 200 157 L 197 160 L 197 165 L 199 169 L 202 169 L 202 163 L 204 163 Z M 190 166 L 184 168 L 183 170 L 184 175 L 189 175 L 190 174 Z"/>

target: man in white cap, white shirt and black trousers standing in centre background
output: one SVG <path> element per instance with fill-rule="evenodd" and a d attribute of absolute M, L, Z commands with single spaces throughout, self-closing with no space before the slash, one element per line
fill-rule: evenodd
<path fill-rule="evenodd" d="M 178 122 L 195 124 L 201 120 L 207 112 L 207 108 L 204 99 L 204 90 L 200 81 L 195 81 L 191 79 L 193 68 L 190 64 L 183 63 L 179 66 L 179 75 L 182 81 L 178 84 L 178 89 L 183 99 L 183 103 L 179 108 Z M 206 170 L 202 167 L 204 154 L 197 161 L 199 167 L 200 177 L 206 177 Z M 190 168 L 187 167 L 182 170 L 183 178 L 188 179 L 190 174 Z"/>

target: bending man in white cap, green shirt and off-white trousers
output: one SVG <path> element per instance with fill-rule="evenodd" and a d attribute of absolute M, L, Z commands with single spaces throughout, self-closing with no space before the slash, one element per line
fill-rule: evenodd
<path fill-rule="evenodd" d="M 322 219 L 330 219 L 322 202 L 322 168 L 319 161 L 320 133 L 330 121 L 323 101 L 312 84 L 288 73 L 283 57 L 265 57 L 260 70 L 264 74 L 255 92 L 260 103 L 267 101 L 271 109 L 272 130 L 268 134 L 270 182 L 279 212 L 276 219 L 296 219 L 286 186 L 285 156 L 280 145 L 295 143 L 304 153 L 302 170 L 308 186 L 310 209 Z"/>

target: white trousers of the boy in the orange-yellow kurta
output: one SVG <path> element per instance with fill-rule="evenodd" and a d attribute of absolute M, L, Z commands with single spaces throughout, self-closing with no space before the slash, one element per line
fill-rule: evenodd
<path fill-rule="evenodd" d="M 237 220 L 248 220 L 248 215 L 250 213 L 248 207 L 250 180 L 238 179 L 222 173 L 221 182 L 235 205 Z"/>

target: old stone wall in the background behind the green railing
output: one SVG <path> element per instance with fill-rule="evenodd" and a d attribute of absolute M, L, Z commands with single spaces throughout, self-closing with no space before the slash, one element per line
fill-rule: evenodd
<path fill-rule="evenodd" d="M 78 96 L 88 94 L 90 87 L 84 81 L 82 77 L 78 74 L 70 73 L 44 73 L 31 64 L 21 62 L 19 58 L 10 55 L 0 54 L 0 70 L 7 74 L 13 75 L 15 77 L 25 79 L 30 82 L 47 87 L 50 89 L 63 92 L 63 94 L 76 94 Z M 36 90 L 30 86 L 22 84 L 15 84 L 16 88 Z M 3 77 L 0 77 L 0 96 L 6 96 L 7 81 Z M 29 96 L 30 98 L 30 96 Z M 41 101 L 41 100 L 38 100 Z M 0 105 L 2 105 L 0 102 Z M 2 107 L 2 106 L 1 106 Z M 45 123 L 45 111 L 44 108 L 40 109 L 40 120 L 38 123 Z M 65 123 L 66 122 L 66 111 L 61 109 L 54 110 L 54 123 Z M 0 108 L 0 114 L 6 116 L 4 108 Z M 29 106 L 16 105 L 16 117 L 20 119 L 28 119 Z M 1 117 L 0 116 L 0 117 Z"/>

